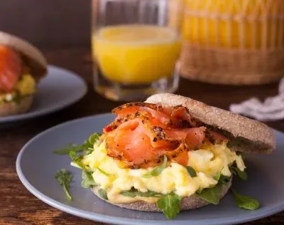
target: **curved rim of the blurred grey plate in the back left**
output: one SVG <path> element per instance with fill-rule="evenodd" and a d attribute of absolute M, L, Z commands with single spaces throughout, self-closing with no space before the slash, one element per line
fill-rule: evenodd
<path fill-rule="evenodd" d="M 37 111 L 34 111 L 34 112 L 26 112 L 26 113 L 22 113 L 22 114 L 18 114 L 18 115 L 9 115 L 9 116 L 0 117 L 0 124 L 6 123 L 6 122 L 16 122 L 16 121 L 20 121 L 20 120 L 29 120 L 29 119 L 32 119 L 32 118 L 36 118 L 36 117 L 40 117 L 40 116 L 43 116 L 43 115 L 48 115 L 48 114 L 53 113 L 53 112 L 57 112 L 59 110 L 67 108 L 70 105 L 73 105 L 74 103 L 77 103 L 77 101 L 81 100 L 84 97 L 84 95 L 87 94 L 87 91 L 88 91 L 87 82 L 78 73 L 75 73 L 74 71 L 69 70 L 67 68 L 62 68 L 60 66 L 48 64 L 48 71 L 50 69 L 61 70 L 65 73 L 69 73 L 69 75 L 72 75 L 72 76 L 78 78 L 80 80 L 80 82 L 82 83 L 82 93 L 80 95 L 78 95 L 76 98 L 74 98 L 73 100 L 70 100 L 69 102 L 64 103 L 62 105 L 58 105 L 57 107 L 54 107 L 54 108 L 48 108 L 46 110 L 37 110 Z"/>

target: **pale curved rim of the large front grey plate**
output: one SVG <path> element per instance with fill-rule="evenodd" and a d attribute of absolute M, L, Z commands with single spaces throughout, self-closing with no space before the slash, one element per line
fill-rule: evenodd
<path fill-rule="evenodd" d="M 24 187 L 26 187 L 26 189 L 28 189 L 28 192 L 31 192 L 31 194 L 33 194 L 35 197 L 37 197 L 38 199 L 40 199 L 40 201 L 45 202 L 45 204 L 48 204 L 49 206 L 54 207 L 55 209 L 59 209 L 60 211 L 64 211 L 67 214 L 72 214 L 74 216 L 78 216 L 80 218 L 84 218 L 84 219 L 89 219 L 92 221 L 99 221 L 99 222 L 104 222 L 104 223 L 111 223 L 111 224 L 135 224 L 135 225 L 141 225 L 141 224 L 239 224 L 239 223 L 244 223 L 244 222 L 248 222 L 248 221 L 255 221 L 257 219 L 262 219 L 265 218 L 267 216 L 271 216 L 273 214 L 277 214 L 280 211 L 284 210 L 284 202 L 277 204 L 275 206 L 271 206 L 269 208 L 266 209 L 258 209 L 257 211 L 255 211 L 254 214 L 252 215 L 248 215 L 245 218 L 243 218 L 243 216 L 230 216 L 230 217 L 226 217 L 226 219 L 202 219 L 202 220 L 163 220 L 163 221 L 159 221 L 159 220 L 153 220 L 153 219 L 149 219 L 149 220 L 143 220 L 143 219 L 130 219 L 130 218 L 121 218 L 121 217 L 117 217 L 117 216 L 109 216 L 106 214 L 99 214 L 97 212 L 92 212 L 92 211 L 85 211 L 83 209 L 79 209 L 77 207 L 74 206 L 68 206 L 66 204 L 62 204 L 61 202 L 58 202 L 57 200 L 48 197 L 47 195 L 43 194 L 42 192 L 40 192 L 39 189 L 36 189 L 35 187 L 33 187 L 33 185 L 28 181 L 28 179 L 26 179 L 25 175 L 23 174 L 22 170 L 21 170 L 21 156 L 23 155 L 23 152 L 25 152 L 28 149 L 28 146 L 31 144 L 31 142 L 37 140 L 39 137 L 45 135 L 48 132 L 52 132 L 53 130 L 56 130 L 60 127 L 64 127 L 65 125 L 68 124 L 72 124 L 75 122 L 80 122 L 81 120 L 89 120 L 89 119 L 93 119 L 96 117 L 105 117 L 105 116 L 109 116 L 109 115 L 113 115 L 112 113 L 100 113 L 100 114 L 96 114 L 96 115 L 89 115 L 87 117 L 80 117 L 74 120 L 68 120 L 66 122 L 62 122 L 58 125 L 55 125 L 53 127 L 50 127 L 46 130 L 43 130 L 42 132 L 38 133 L 37 135 L 33 136 L 31 138 L 31 140 L 28 140 L 28 142 L 26 142 L 25 145 L 23 145 L 23 147 L 21 148 L 20 152 L 18 152 L 18 155 L 16 157 L 16 173 L 18 174 L 18 178 L 20 179 L 21 183 L 23 184 Z M 280 132 L 278 130 L 273 129 L 272 127 L 270 127 L 273 132 Z M 283 132 L 280 132 L 282 135 L 284 135 Z M 86 190 L 87 191 L 87 190 Z M 121 208 L 119 208 L 121 209 Z M 210 221 L 210 223 L 209 223 Z"/>

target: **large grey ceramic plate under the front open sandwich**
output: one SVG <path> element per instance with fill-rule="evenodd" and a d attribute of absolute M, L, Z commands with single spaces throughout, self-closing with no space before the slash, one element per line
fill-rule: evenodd
<path fill-rule="evenodd" d="M 50 128 L 29 141 L 16 161 L 18 177 L 23 185 L 43 202 L 67 213 L 111 224 L 235 224 L 259 219 L 284 209 L 284 134 L 275 131 L 277 150 L 272 155 L 247 157 L 249 179 L 234 180 L 234 188 L 241 194 L 256 197 L 261 208 L 256 211 L 239 209 L 231 193 L 219 205 L 183 211 L 173 221 L 161 213 L 121 209 L 103 202 L 89 189 L 80 187 L 80 169 L 70 166 L 68 156 L 54 155 L 53 150 L 68 143 L 82 143 L 93 132 L 101 132 L 114 116 L 111 114 L 84 117 Z M 54 179 L 58 169 L 66 168 L 74 174 L 71 185 L 73 202 L 68 202 L 62 188 Z"/>

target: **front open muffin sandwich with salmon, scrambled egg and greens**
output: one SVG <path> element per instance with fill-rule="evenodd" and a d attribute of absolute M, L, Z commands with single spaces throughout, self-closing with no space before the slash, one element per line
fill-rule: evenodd
<path fill-rule="evenodd" d="M 234 174 L 247 178 L 244 153 L 275 149 L 273 131 L 263 123 L 180 95 L 152 95 L 113 112 L 117 117 L 102 135 L 70 149 L 82 187 L 110 204 L 163 211 L 170 219 L 219 204 Z M 238 206 L 258 208 L 256 199 L 232 192 L 242 199 Z"/>

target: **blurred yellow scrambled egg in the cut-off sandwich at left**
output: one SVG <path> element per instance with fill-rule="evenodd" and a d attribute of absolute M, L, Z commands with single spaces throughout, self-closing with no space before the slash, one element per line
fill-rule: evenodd
<path fill-rule="evenodd" d="M 32 95 L 33 93 L 35 93 L 35 80 L 30 74 L 24 74 L 21 80 L 18 80 L 13 92 L 0 93 L 0 103 L 12 101 L 16 95 Z"/>

